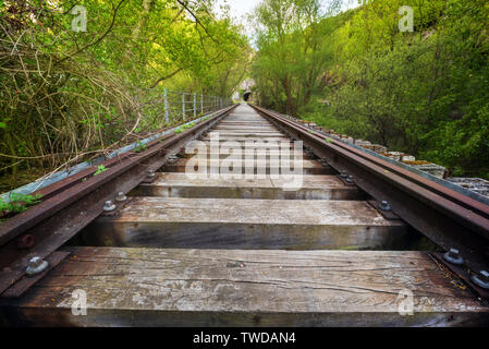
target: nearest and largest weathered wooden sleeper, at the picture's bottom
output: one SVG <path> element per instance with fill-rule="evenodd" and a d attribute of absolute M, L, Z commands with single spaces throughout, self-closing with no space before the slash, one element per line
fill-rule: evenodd
<path fill-rule="evenodd" d="M 68 250 L 23 299 L 0 303 L 10 324 L 488 325 L 488 308 L 421 252 Z M 85 316 L 72 314 L 75 290 Z"/>

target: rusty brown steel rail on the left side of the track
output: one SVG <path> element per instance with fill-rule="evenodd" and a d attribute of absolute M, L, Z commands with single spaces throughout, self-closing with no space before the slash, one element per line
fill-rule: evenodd
<path fill-rule="evenodd" d="M 149 143 L 148 149 L 112 160 L 105 172 L 84 181 L 81 176 L 46 188 L 49 197 L 0 225 L 0 297 L 24 275 L 33 256 L 47 258 L 103 212 L 103 203 L 118 192 L 127 193 L 176 154 L 182 146 L 207 132 L 236 106 L 218 111 L 180 134 Z M 88 172 L 90 173 L 90 172 Z M 85 177 L 88 178 L 88 177 Z M 19 239 L 35 241 L 28 249 L 19 248 Z M 7 293 L 7 292 L 5 292 Z"/>

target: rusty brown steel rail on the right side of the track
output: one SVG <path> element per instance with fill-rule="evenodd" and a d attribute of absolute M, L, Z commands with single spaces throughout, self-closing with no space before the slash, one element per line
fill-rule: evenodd
<path fill-rule="evenodd" d="M 355 184 L 445 251 L 461 251 L 469 281 L 474 272 L 488 270 L 489 206 L 419 174 L 325 136 L 280 115 L 253 106 L 276 125 L 301 140 L 333 169 L 353 176 Z M 479 294 L 487 292 L 477 289 Z"/>

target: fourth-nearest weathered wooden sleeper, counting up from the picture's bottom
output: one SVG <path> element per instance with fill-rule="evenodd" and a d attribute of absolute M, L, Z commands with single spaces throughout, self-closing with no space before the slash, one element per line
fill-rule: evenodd
<path fill-rule="evenodd" d="M 182 158 L 179 159 L 174 163 L 171 164 L 166 164 L 162 168 L 161 171 L 162 172 L 186 172 L 187 168 L 187 161 L 191 161 L 192 158 Z M 208 160 L 208 166 L 207 166 L 207 172 L 210 172 L 210 169 L 220 169 L 220 168 L 225 168 L 224 166 L 229 165 L 231 166 L 229 160 L 225 159 L 210 159 Z M 308 160 L 308 159 L 303 159 L 302 161 L 302 173 L 303 174 L 333 174 L 334 170 L 329 167 L 329 166 L 322 166 L 320 165 L 318 161 L 316 160 Z M 192 164 L 197 164 L 196 160 L 192 160 Z M 273 164 L 273 163 L 272 163 Z M 291 164 L 293 164 L 293 161 L 291 161 Z M 246 173 L 246 169 L 245 166 L 247 164 L 245 164 L 244 161 L 234 161 L 234 166 L 240 166 L 241 167 L 241 173 Z M 222 167 L 221 167 L 222 166 Z M 283 173 L 285 172 L 284 170 L 281 169 L 280 165 L 276 166 L 273 165 L 272 167 L 270 166 L 270 159 L 267 158 L 266 160 L 261 160 L 261 159 L 254 159 L 254 173 L 257 173 L 258 169 L 262 169 L 260 171 L 264 171 L 265 173 Z M 272 170 L 271 170 L 272 169 Z M 196 169 L 197 170 L 197 169 Z M 234 171 L 233 168 L 231 168 L 232 171 Z M 237 169 L 237 172 L 240 172 L 240 169 Z M 290 170 L 289 173 L 292 173 L 293 171 Z M 261 173 L 261 172 L 260 172 Z"/>

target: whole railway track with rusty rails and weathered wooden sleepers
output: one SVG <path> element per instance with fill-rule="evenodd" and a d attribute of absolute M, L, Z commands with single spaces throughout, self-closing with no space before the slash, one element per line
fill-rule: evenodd
<path fill-rule="evenodd" d="M 0 228 L 8 325 L 488 324 L 486 204 L 258 107 L 42 194 Z"/>

